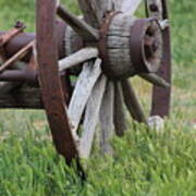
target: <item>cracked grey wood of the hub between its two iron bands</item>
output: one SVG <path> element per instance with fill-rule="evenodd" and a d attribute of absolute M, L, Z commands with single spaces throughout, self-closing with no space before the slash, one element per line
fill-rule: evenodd
<path fill-rule="evenodd" d="M 134 22 L 135 17 L 127 14 L 118 14 L 109 27 L 107 50 L 110 62 L 110 74 L 114 77 L 124 78 L 135 74 L 130 56 L 131 27 Z"/>

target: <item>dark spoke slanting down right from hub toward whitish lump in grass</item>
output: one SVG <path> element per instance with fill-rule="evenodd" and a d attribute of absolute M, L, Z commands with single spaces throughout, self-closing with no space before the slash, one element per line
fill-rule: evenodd
<path fill-rule="evenodd" d="M 147 124 L 147 119 L 144 114 L 144 111 L 136 98 L 135 91 L 128 82 L 128 79 L 122 81 L 122 89 L 125 105 L 132 115 L 132 118 L 138 122 L 143 122 Z"/>

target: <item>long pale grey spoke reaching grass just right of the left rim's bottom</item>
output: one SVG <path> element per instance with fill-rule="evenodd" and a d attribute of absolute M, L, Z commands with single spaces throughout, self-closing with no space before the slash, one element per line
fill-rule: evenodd
<path fill-rule="evenodd" d="M 102 97 L 106 89 L 107 78 L 105 75 L 96 83 L 89 100 L 87 102 L 85 121 L 84 121 L 84 132 L 81 139 L 81 157 L 89 157 L 93 139 L 96 131 L 96 126 L 99 121 L 99 112 L 101 107 Z"/>

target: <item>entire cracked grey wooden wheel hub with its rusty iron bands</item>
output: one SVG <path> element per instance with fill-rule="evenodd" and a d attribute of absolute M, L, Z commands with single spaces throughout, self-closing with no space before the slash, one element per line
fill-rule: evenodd
<path fill-rule="evenodd" d="M 112 12 L 100 29 L 99 52 L 102 70 L 110 78 L 157 72 L 162 57 L 159 24 L 154 19 Z"/>

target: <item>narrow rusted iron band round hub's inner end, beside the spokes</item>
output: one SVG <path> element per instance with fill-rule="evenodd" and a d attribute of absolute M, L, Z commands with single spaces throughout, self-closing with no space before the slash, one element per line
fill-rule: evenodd
<path fill-rule="evenodd" d="M 113 78 L 112 74 L 110 73 L 110 58 L 109 58 L 109 53 L 108 53 L 108 49 L 107 49 L 107 44 L 108 44 L 108 30 L 110 27 L 110 24 L 112 22 L 112 20 L 114 19 L 115 15 L 120 14 L 122 12 L 120 11 L 113 11 L 108 13 L 108 15 L 106 16 L 106 20 L 103 22 L 103 25 L 100 27 L 100 38 L 99 38 L 99 42 L 98 42 L 98 48 L 99 48 L 99 52 L 100 52 L 100 57 L 102 59 L 102 71 L 103 73 L 110 77 Z"/>

